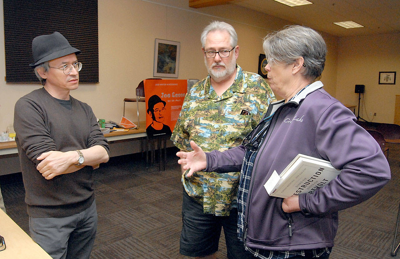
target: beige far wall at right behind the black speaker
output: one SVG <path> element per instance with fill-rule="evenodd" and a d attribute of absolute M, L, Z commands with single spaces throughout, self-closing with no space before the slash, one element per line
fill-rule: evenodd
<path fill-rule="evenodd" d="M 393 123 L 395 95 L 400 94 L 399 50 L 400 33 L 340 38 L 336 98 L 358 105 L 354 87 L 364 84 L 365 104 L 361 99 L 360 116 L 368 121 Z M 378 84 L 380 71 L 397 71 L 396 84 Z M 375 118 L 370 115 L 374 112 Z"/>

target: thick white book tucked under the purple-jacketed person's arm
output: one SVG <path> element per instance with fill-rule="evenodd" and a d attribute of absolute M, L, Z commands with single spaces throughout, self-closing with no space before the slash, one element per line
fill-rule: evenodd
<path fill-rule="evenodd" d="M 264 187 L 270 196 L 280 198 L 314 193 L 339 173 L 329 161 L 298 154 L 280 175 L 274 171 Z"/>

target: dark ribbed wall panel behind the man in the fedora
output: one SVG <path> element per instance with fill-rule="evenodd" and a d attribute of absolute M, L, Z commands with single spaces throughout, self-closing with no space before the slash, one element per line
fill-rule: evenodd
<path fill-rule="evenodd" d="M 32 40 L 60 32 L 82 51 L 79 82 L 98 83 L 97 0 L 3 0 L 6 82 L 40 83 L 33 68 Z"/>

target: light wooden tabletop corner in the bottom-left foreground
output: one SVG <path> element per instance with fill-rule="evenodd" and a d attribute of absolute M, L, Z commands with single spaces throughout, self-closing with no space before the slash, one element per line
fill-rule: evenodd
<path fill-rule="evenodd" d="M 42 247 L 36 244 L 4 211 L 0 209 L 0 235 L 4 237 L 6 249 L 0 258 L 51 259 Z"/>

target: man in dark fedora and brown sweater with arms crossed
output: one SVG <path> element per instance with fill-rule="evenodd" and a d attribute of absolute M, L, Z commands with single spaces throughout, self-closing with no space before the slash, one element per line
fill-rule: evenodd
<path fill-rule="evenodd" d="M 15 104 L 14 129 L 32 239 L 53 258 L 89 258 L 97 229 L 93 170 L 109 147 L 92 108 L 70 96 L 82 63 L 60 33 L 32 41 L 43 87 Z"/>

